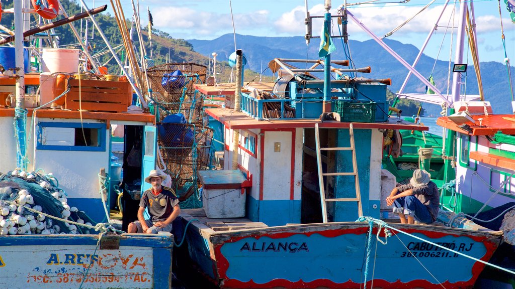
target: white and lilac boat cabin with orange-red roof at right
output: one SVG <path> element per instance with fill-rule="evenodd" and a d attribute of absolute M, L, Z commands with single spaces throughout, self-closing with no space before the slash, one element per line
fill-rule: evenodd
<path fill-rule="evenodd" d="M 455 191 L 444 192 L 442 205 L 476 213 L 513 202 L 515 118 L 492 114 L 489 102 L 458 102 L 455 107 L 455 114 L 437 120 L 456 134 L 456 179 L 461 180 Z"/>

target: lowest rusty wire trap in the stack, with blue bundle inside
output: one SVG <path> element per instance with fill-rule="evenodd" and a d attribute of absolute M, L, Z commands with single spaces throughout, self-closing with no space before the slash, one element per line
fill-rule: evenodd
<path fill-rule="evenodd" d="M 158 123 L 158 145 L 179 200 L 198 196 L 197 171 L 211 166 L 213 129 L 191 123 Z"/>

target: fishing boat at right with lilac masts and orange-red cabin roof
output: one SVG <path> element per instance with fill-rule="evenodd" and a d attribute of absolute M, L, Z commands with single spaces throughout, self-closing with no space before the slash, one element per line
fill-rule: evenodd
<path fill-rule="evenodd" d="M 513 11 L 509 2 L 505 2 L 508 7 L 508 13 L 513 19 Z M 514 168 L 513 164 L 513 114 L 494 114 L 488 96 L 484 96 L 482 78 L 480 76 L 479 60 L 477 53 L 477 45 L 475 43 L 475 20 L 473 2 L 461 3 L 458 22 L 458 41 L 456 46 L 456 55 L 454 59 L 454 67 L 452 70 L 452 95 L 442 95 L 436 90 L 433 83 L 422 77 L 415 66 L 420 59 L 428 40 L 433 32 L 437 29 L 439 21 L 442 17 L 448 3 L 445 3 L 441 14 L 435 23 L 435 26 L 428 34 L 425 43 L 414 61 L 413 65 L 409 65 L 397 53 L 366 27 L 362 28 L 369 35 L 382 45 L 392 56 L 398 59 L 406 68 L 409 74 L 406 77 L 401 90 L 397 94 L 398 98 L 407 98 L 425 103 L 443 105 L 444 111 L 442 117 L 439 117 L 437 124 L 444 129 L 443 137 L 434 134 L 417 134 L 417 132 L 402 131 L 402 136 L 408 136 L 408 144 L 403 142 L 402 150 L 408 151 L 408 156 L 401 156 L 394 160 L 388 154 L 388 159 L 383 160 L 387 164 L 388 170 L 397 177 L 397 180 L 405 179 L 413 169 L 429 168 L 432 176 L 437 176 L 437 184 L 441 184 L 441 205 L 442 209 L 456 213 L 457 215 L 466 216 L 469 220 L 476 224 L 488 227 L 492 230 L 502 230 L 504 232 L 503 242 L 500 248 L 495 252 L 491 263 L 497 267 L 488 267 L 484 274 L 477 281 L 479 287 L 492 286 L 511 286 L 513 280 L 513 269 L 515 264 L 510 258 L 512 256 L 515 244 L 512 238 L 513 226 L 513 194 L 514 190 L 511 186 Z M 502 27 L 503 9 L 499 4 L 499 14 Z M 361 25 L 361 24 L 360 24 Z M 501 29 L 501 32 L 503 30 Z M 463 94 L 464 89 L 461 86 L 466 85 L 462 80 L 467 63 L 464 62 L 464 46 L 467 42 L 471 47 L 471 55 L 474 60 L 474 71 L 478 83 L 478 95 Z M 504 34 L 502 33 L 501 39 Z M 504 62 L 508 78 L 506 86 L 506 95 L 511 95 L 513 100 L 513 67 L 510 66 L 509 58 L 506 55 L 507 48 L 504 45 Z M 450 71 L 451 74 L 451 71 Z M 421 82 L 424 82 L 429 89 L 433 89 L 433 94 L 413 94 L 403 92 L 403 88 L 411 75 L 417 76 Z M 451 79 L 451 75 L 449 75 Z M 512 107 L 513 107 L 513 101 Z M 515 110 L 513 110 L 515 111 Z M 421 136 L 424 137 L 423 141 Z M 413 143 L 416 139 L 418 143 Z M 404 138 L 403 138 L 404 141 Z M 432 154 L 422 159 L 421 150 L 431 149 Z M 417 154 L 418 151 L 418 154 Z M 386 155 L 387 153 L 385 153 Z M 409 158 L 411 158 L 409 160 Z M 414 164 L 408 170 L 399 170 L 398 166 L 401 162 L 410 162 Z M 435 162 L 437 165 L 435 165 Z"/>

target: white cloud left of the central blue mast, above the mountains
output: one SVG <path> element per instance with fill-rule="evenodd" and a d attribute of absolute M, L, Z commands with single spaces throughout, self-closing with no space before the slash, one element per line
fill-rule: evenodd
<path fill-rule="evenodd" d="M 154 26 L 164 31 L 190 29 L 191 35 L 220 34 L 231 30 L 231 15 L 202 12 L 189 7 L 167 6 L 152 11 Z M 237 33 L 244 33 L 247 28 L 264 27 L 268 23 L 268 11 L 258 10 L 250 13 L 234 14 Z"/>

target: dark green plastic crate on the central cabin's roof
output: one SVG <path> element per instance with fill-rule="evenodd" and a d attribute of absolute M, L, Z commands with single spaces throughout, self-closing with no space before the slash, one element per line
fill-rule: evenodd
<path fill-rule="evenodd" d="M 375 102 L 338 100 L 336 112 L 342 122 L 375 122 Z"/>

